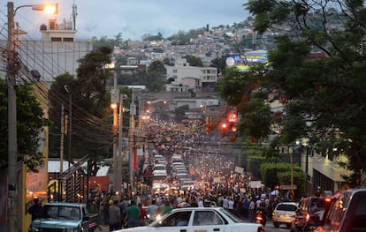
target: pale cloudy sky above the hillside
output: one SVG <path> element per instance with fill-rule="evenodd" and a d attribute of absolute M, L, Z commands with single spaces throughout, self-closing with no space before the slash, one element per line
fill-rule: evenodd
<path fill-rule="evenodd" d="M 247 0 L 13 0 L 14 7 L 24 4 L 58 3 L 57 23 L 72 16 L 72 4 L 77 5 L 77 39 L 114 38 L 141 40 L 143 34 L 163 34 L 169 37 L 182 30 L 188 32 L 206 26 L 239 23 L 248 18 L 243 4 Z M 2 20 L 6 21 L 7 7 L 1 6 Z M 27 36 L 40 38 L 39 27 L 50 16 L 30 8 L 20 8 L 15 16 Z"/>

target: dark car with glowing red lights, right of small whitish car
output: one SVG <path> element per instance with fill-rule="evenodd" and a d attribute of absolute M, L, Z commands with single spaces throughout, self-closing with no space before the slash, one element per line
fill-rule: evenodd
<path fill-rule="evenodd" d="M 291 223 L 291 232 L 313 231 L 323 220 L 323 215 L 331 198 L 309 197 L 301 199 L 299 210 Z"/>

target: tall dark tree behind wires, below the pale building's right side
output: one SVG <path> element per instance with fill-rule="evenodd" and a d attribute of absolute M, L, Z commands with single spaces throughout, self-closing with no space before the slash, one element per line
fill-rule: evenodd
<path fill-rule="evenodd" d="M 59 153 L 62 104 L 65 106 L 65 115 L 69 114 L 65 85 L 72 94 L 72 158 L 87 154 L 108 157 L 111 154 L 111 93 L 106 89 L 111 73 L 103 69 L 104 64 L 109 63 L 111 49 L 101 47 L 80 59 L 77 79 L 68 73 L 55 79 L 50 88 L 51 154 Z"/>

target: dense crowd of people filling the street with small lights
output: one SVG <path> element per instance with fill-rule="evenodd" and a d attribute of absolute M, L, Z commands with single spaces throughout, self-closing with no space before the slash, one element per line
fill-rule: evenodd
<path fill-rule="evenodd" d="M 151 120 L 147 131 L 154 150 L 149 151 L 145 168 L 151 168 L 149 164 L 153 163 L 156 153 L 163 155 L 168 164 L 174 153 L 180 153 L 187 163 L 190 178 L 194 180 L 194 188 L 187 191 L 138 191 L 126 193 L 120 200 L 106 194 L 101 199 L 100 215 L 111 231 L 146 225 L 155 221 L 157 215 L 160 217 L 179 207 L 221 206 L 243 220 L 254 221 L 257 208 L 263 206 L 271 216 L 278 202 L 288 200 L 286 196 L 272 196 L 261 188 L 248 187 L 250 176 L 235 173 L 234 162 L 220 154 L 219 147 L 211 147 L 212 151 L 202 150 L 202 144 L 212 138 L 201 123 L 187 125 Z M 143 175 L 138 177 L 142 183 L 147 181 Z M 179 190 L 176 176 L 169 175 L 157 181 L 169 183 Z"/>

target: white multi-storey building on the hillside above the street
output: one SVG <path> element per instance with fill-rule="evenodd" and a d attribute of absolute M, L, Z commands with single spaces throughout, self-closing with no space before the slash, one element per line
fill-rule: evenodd
<path fill-rule="evenodd" d="M 190 66 L 186 59 L 179 59 L 174 66 L 165 65 L 166 79 L 173 79 L 166 91 L 207 91 L 217 83 L 217 68 Z M 177 90 L 178 89 L 178 90 Z"/>

